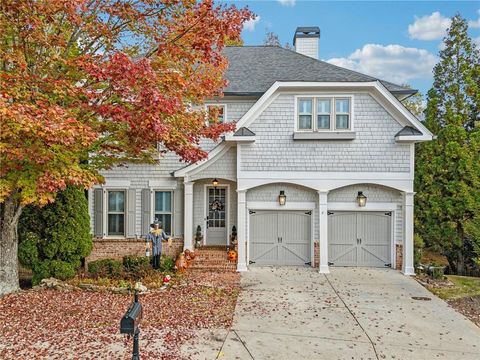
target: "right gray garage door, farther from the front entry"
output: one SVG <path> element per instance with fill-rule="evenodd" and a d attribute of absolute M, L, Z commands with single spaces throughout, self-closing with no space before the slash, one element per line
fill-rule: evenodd
<path fill-rule="evenodd" d="M 328 258 L 334 266 L 391 266 L 391 212 L 330 212 Z"/>

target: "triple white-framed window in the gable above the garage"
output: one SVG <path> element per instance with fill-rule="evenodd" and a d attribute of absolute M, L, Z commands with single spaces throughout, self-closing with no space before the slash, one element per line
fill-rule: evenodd
<path fill-rule="evenodd" d="M 297 97 L 297 131 L 352 130 L 352 96 Z"/>

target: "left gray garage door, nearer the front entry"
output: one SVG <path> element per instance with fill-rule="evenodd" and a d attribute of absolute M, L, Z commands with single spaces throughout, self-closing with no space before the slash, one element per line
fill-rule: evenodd
<path fill-rule="evenodd" d="M 311 211 L 250 211 L 250 263 L 310 264 L 311 218 Z"/>

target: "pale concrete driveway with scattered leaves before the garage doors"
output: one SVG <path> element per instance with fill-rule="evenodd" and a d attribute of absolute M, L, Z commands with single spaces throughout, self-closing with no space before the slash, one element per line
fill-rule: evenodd
<path fill-rule="evenodd" d="M 480 328 L 395 270 L 252 267 L 242 286 L 218 359 L 480 359 Z"/>

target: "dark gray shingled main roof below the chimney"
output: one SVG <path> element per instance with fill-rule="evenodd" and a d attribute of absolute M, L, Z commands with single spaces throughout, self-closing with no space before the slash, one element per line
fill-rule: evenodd
<path fill-rule="evenodd" d="M 223 50 L 228 58 L 225 95 L 260 96 L 275 81 L 368 82 L 379 80 L 325 61 L 313 59 L 277 46 L 231 46 Z M 417 91 L 379 80 L 395 95 Z"/>

